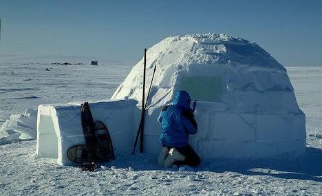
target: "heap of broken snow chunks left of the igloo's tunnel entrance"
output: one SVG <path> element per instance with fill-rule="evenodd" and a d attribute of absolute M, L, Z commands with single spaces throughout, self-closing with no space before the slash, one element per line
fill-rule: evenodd
<path fill-rule="evenodd" d="M 36 138 L 36 112 L 30 108 L 24 114 L 12 114 L 0 127 L 0 145 L 16 140 Z"/>

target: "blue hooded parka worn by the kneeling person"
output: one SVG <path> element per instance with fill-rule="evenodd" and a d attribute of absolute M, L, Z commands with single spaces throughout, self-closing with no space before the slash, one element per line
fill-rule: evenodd
<path fill-rule="evenodd" d="M 197 132 L 197 123 L 190 108 L 191 98 L 184 90 L 175 94 L 172 104 L 160 114 L 160 142 L 167 147 L 183 147 L 188 144 L 189 134 Z M 192 118 L 192 119 L 191 119 Z"/>

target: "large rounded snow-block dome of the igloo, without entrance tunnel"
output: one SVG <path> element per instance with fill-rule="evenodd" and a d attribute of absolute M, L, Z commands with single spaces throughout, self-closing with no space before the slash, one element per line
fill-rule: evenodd
<path fill-rule="evenodd" d="M 165 38 L 147 50 L 147 88 L 157 65 L 144 132 L 144 151 L 158 153 L 158 114 L 177 90 L 197 100 L 202 158 L 266 158 L 305 150 L 305 115 L 286 69 L 255 42 L 226 34 Z M 143 59 L 111 99 L 142 99 Z"/>

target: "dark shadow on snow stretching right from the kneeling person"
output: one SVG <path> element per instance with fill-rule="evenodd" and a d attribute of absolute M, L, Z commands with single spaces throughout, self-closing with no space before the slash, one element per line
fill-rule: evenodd
<path fill-rule="evenodd" d="M 322 182 L 322 150 L 306 147 L 299 158 L 284 156 L 262 160 L 213 160 L 204 162 L 198 171 L 233 171 L 243 175 L 268 175 L 283 179 Z"/>

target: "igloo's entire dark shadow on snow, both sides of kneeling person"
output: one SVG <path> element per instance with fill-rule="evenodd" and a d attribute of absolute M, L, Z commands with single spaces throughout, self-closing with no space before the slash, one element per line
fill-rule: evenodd
<path fill-rule="evenodd" d="M 164 169 L 156 163 L 155 156 L 136 154 L 127 158 L 108 162 L 107 166 L 117 168 L 133 167 L 136 171 L 178 171 L 178 168 Z M 250 159 L 215 159 L 203 161 L 194 171 L 216 173 L 236 172 L 242 175 L 266 175 L 281 179 L 312 180 L 322 182 L 322 150 L 306 147 L 305 154 L 298 158 L 281 156 L 279 158 Z"/>

